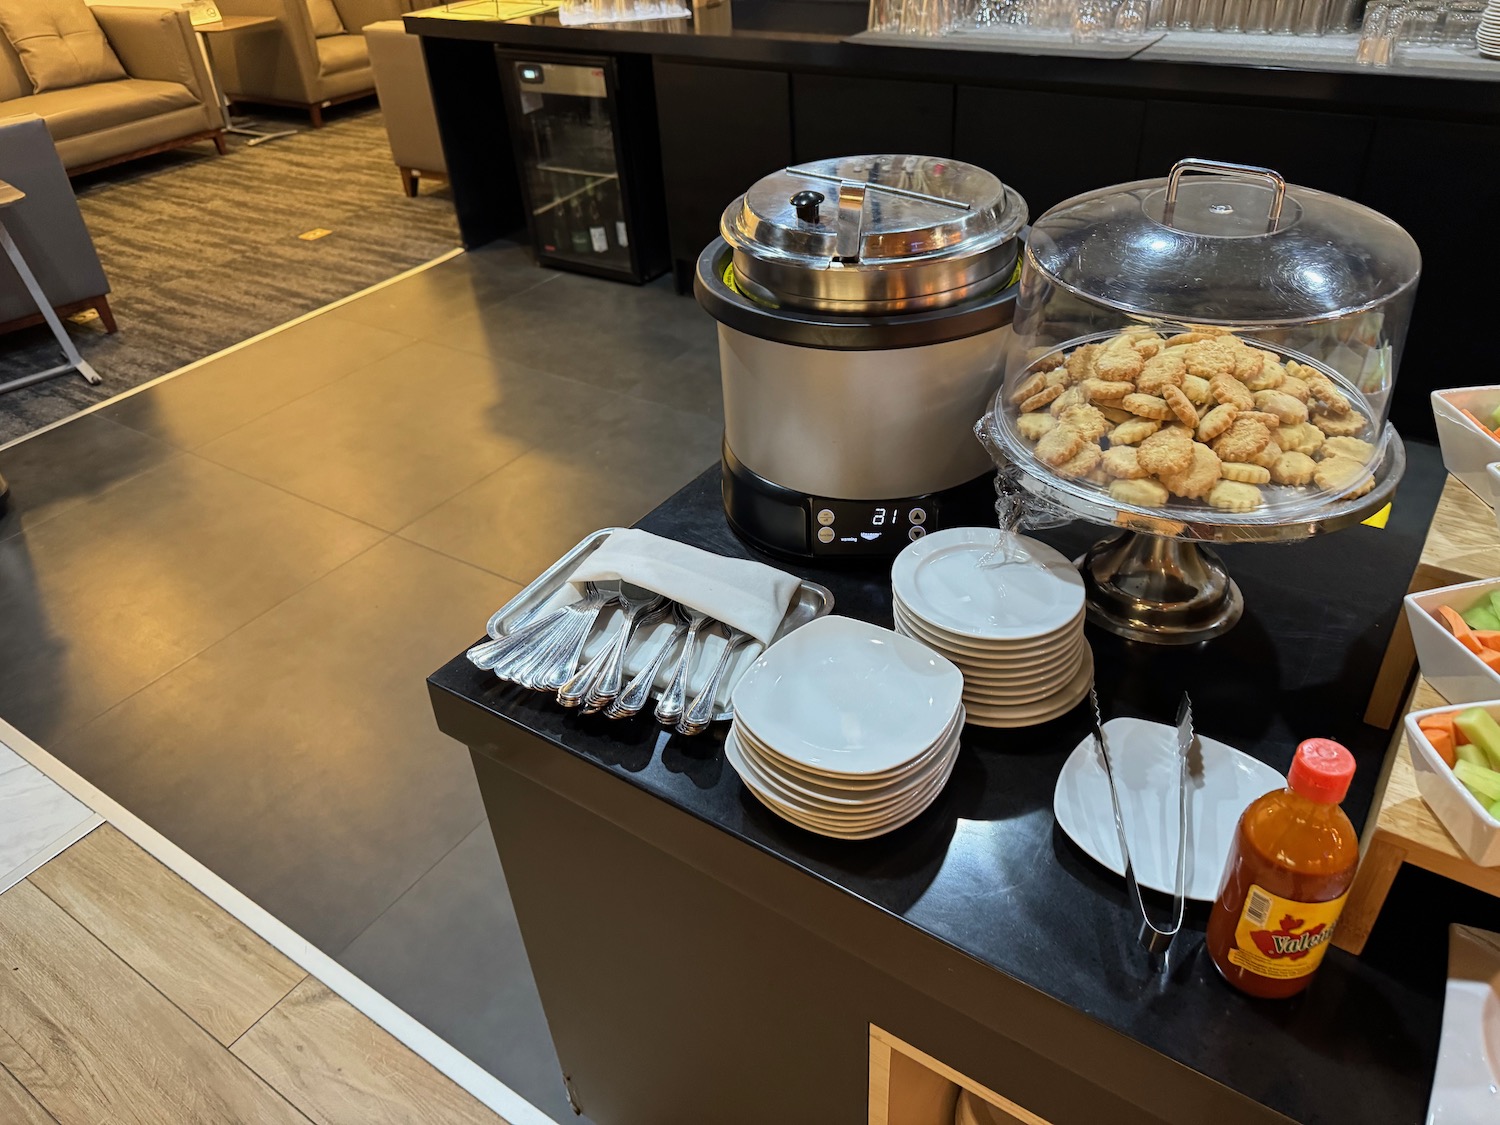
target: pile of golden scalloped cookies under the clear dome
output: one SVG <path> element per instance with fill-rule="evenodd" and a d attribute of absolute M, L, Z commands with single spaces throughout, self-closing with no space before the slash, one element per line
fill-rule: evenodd
<path fill-rule="evenodd" d="M 1374 488 L 1370 418 L 1322 370 L 1227 328 L 1131 327 L 1046 356 L 1010 398 L 1038 460 L 1122 504 L 1178 496 L 1240 513 L 1264 504 L 1266 484 Z"/>

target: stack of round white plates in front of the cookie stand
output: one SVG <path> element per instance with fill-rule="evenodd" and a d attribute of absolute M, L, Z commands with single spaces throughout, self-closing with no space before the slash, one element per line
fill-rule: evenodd
<path fill-rule="evenodd" d="M 1034 726 L 1071 711 L 1094 682 L 1083 639 L 1083 579 L 1064 555 L 1023 536 L 996 552 L 994 528 L 946 528 L 891 568 L 896 630 L 963 672 L 980 726 Z"/>

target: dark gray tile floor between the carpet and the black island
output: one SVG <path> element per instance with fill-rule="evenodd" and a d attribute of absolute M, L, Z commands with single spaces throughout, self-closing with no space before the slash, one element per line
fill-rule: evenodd
<path fill-rule="evenodd" d="M 444 262 L 0 452 L 0 716 L 572 1119 L 423 680 L 720 429 L 666 282 Z"/>

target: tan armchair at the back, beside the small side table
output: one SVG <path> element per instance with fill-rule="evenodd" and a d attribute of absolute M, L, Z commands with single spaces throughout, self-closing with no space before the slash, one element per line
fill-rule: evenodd
<path fill-rule="evenodd" d="M 210 36 L 213 68 L 231 102 L 322 111 L 375 93 L 362 32 L 398 20 L 408 0 L 218 0 L 224 15 L 268 15 L 276 24 Z"/>

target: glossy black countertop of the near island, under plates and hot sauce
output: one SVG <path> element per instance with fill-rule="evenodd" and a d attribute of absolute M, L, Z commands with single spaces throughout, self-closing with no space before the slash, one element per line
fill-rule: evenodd
<path fill-rule="evenodd" d="M 1106 717 L 1170 722 L 1186 688 L 1202 735 L 1282 771 L 1299 740 L 1338 738 L 1359 762 L 1346 808 L 1360 825 L 1389 746 L 1389 734 L 1365 726 L 1362 714 L 1443 478 L 1437 450 L 1413 444 L 1388 528 L 1222 549 L 1246 612 L 1216 640 L 1138 645 L 1090 626 Z M 717 470 L 639 526 L 723 555 L 756 556 L 724 524 Z M 1100 534 L 1070 525 L 1040 537 L 1077 554 Z M 836 612 L 891 626 L 888 567 L 798 570 L 834 591 Z M 579 717 L 500 684 L 462 656 L 434 674 L 430 686 L 1288 1118 L 1362 1125 L 1424 1118 L 1446 921 L 1430 920 L 1406 934 L 1401 922 L 1388 921 L 1388 908 L 1377 927 L 1384 940 L 1374 940 L 1364 958 L 1332 950 L 1308 993 L 1263 1002 L 1218 978 L 1203 952 L 1206 908 L 1190 904 L 1176 966 L 1166 981 L 1154 976 L 1136 951 L 1124 882 L 1053 820 L 1058 771 L 1088 734 L 1086 708 L 1026 730 L 968 728 L 952 780 L 932 808 L 890 836 L 849 843 L 766 812 L 726 765 L 717 726 L 681 738 L 648 720 Z M 1378 948 L 1395 951 L 1380 957 Z"/>

